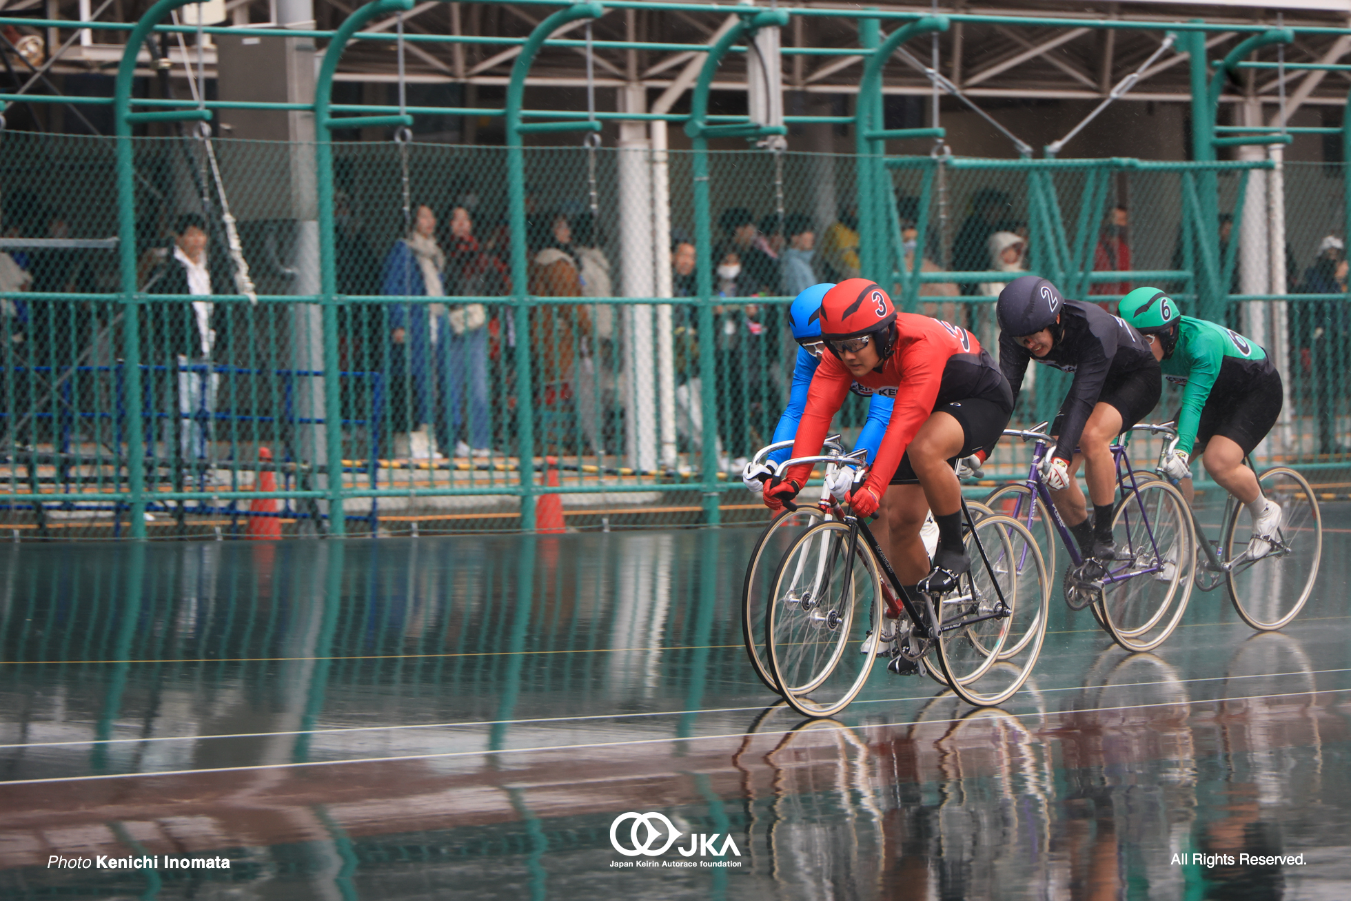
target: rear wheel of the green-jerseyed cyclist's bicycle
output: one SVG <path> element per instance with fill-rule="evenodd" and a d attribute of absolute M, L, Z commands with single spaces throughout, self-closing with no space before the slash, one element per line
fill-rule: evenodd
<path fill-rule="evenodd" d="M 1304 475 L 1277 466 L 1258 475 L 1262 493 L 1281 505 L 1281 528 L 1270 550 L 1258 559 L 1248 557 L 1247 528 L 1239 527 L 1243 511 L 1235 508 L 1225 524 L 1224 559 L 1233 562 L 1228 573 L 1229 597 L 1243 621 L 1258 631 L 1283 627 L 1304 608 L 1313 593 L 1323 559 L 1323 516 L 1313 489 Z"/>

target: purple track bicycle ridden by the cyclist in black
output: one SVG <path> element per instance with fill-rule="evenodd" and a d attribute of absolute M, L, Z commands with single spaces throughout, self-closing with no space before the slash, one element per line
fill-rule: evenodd
<path fill-rule="evenodd" d="M 1048 423 L 1031 430 L 1009 428 L 1008 438 L 1035 442 L 1027 478 L 996 489 L 985 498 L 990 509 L 1008 511 L 1025 525 L 1039 547 L 1052 559 L 1054 536 L 1069 552 L 1062 586 L 1070 609 L 1085 607 L 1117 644 L 1128 651 L 1148 651 L 1162 644 L 1186 611 L 1196 567 L 1196 534 L 1182 493 L 1152 473 L 1131 467 L 1127 446 L 1111 446 L 1116 465 L 1117 503 L 1112 513 L 1112 538 L 1117 559 L 1086 559 L 1051 501 L 1042 480 L 1042 461 L 1055 439 Z M 1163 426 L 1135 426 L 1131 431 L 1162 434 Z"/>

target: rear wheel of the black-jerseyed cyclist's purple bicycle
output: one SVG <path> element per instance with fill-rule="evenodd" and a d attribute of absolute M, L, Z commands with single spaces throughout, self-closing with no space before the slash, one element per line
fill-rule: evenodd
<path fill-rule="evenodd" d="M 1182 493 L 1161 480 L 1131 489 L 1112 517 L 1123 559 L 1104 563 L 1101 621 L 1128 651 L 1148 651 L 1173 634 L 1192 597 L 1196 534 Z"/>

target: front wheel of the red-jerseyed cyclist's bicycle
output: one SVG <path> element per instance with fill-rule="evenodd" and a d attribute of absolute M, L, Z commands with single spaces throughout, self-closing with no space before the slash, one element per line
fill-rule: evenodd
<path fill-rule="evenodd" d="M 784 554 L 765 616 L 770 677 L 802 716 L 832 716 L 859 693 L 877 658 L 882 597 L 877 558 L 844 523 L 820 523 Z"/>

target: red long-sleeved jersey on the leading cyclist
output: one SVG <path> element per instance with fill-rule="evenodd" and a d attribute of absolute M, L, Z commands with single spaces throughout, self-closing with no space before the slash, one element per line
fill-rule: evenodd
<path fill-rule="evenodd" d="M 940 404 L 966 397 L 982 397 L 992 390 L 1012 392 L 975 335 L 959 326 L 920 316 L 896 313 L 896 347 L 881 370 L 854 377 L 834 354 L 825 353 L 816 367 L 807 393 L 807 409 L 797 427 L 793 457 L 819 454 L 831 427 L 831 417 L 844 404 L 850 385 L 858 381 L 880 394 L 896 398 L 882 444 L 873 461 L 867 485 L 881 497 L 896 474 L 905 448 L 915 440 L 920 426 Z M 811 466 L 794 466 L 788 474 L 800 485 L 807 484 Z"/>

